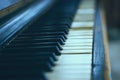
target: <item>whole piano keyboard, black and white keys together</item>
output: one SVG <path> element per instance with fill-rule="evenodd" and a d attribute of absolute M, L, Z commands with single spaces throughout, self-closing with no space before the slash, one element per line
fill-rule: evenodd
<path fill-rule="evenodd" d="M 94 0 L 64 1 L 3 47 L 0 79 L 92 79 Z"/>

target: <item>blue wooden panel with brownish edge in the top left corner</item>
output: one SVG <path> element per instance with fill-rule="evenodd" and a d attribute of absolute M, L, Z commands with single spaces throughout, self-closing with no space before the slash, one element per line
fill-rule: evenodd
<path fill-rule="evenodd" d="M 16 11 L 17 9 L 29 4 L 33 0 L 4 0 L 0 2 L 0 18 Z"/>

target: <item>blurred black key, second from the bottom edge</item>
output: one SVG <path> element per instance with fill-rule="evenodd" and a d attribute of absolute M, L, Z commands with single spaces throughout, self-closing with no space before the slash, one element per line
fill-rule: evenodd
<path fill-rule="evenodd" d="M 42 59 L 41 59 L 42 60 Z M 53 64 L 51 64 L 51 59 L 42 61 L 34 61 L 34 60 L 21 60 L 21 61 L 8 61 L 8 62 L 0 62 L 0 69 L 9 69 L 9 68 L 40 68 L 45 71 L 51 71 Z"/>

